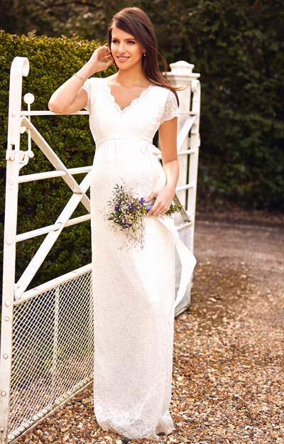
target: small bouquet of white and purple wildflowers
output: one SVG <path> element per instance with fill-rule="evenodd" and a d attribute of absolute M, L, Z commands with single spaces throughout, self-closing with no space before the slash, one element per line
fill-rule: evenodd
<path fill-rule="evenodd" d="M 125 183 L 121 186 L 116 184 L 112 194 L 113 197 L 104 208 L 104 219 L 109 222 L 114 232 L 120 230 L 125 232 L 128 244 L 133 247 L 140 246 L 143 249 L 144 216 L 153 205 L 146 205 L 143 197 L 135 197 L 132 188 L 127 187 Z M 180 208 L 180 205 L 170 205 L 166 214 L 173 214 Z"/>

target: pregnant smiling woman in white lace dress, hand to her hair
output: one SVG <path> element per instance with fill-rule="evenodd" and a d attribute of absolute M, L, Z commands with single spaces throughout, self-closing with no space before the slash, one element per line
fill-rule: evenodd
<path fill-rule="evenodd" d="M 178 181 L 175 89 L 160 75 L 153 26 L 141 9 L 126 8 L 109 26 L 109 48 L 50 98 L 53 112 L 83 107 L 96 142 L 91 226 L 94 286 L 94 413 L 104 431 L 157 438 L 173 431 L 169 406 L 175 300 L 173 237 L 160 222 Z M 90 76 L 112 63 L 116 73 Z M 155 157 L 159 131 L 163 168 Z M 145 217 L 143 249 L 120 248 L 103 215 L 121 180 L 154 205 Z M 173 321 L 173 319 L 172 319 Z"/>

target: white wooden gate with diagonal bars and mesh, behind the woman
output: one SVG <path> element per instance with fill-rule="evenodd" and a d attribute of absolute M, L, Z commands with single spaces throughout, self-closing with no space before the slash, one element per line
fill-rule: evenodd
<path fill-rule="evenodd" d="M 178 154 L 180 181 L 178 197 L 185 206 L 176 216 L 180 237 L 193 250 L 198 149 L 200 145 L 200 82 L 192 65 L 171 65 L 173 85 L 186 83 L 180 92 Z M 27 291 L 33 276 L 65 227 L 89 220 L 91 166 L 67 168 L 33 125 L 33 116 L 51 116 L 48 111 L 31 111 L 33 95 L 21 110 L 22 80 L 29 71 L 27 58 L 16 57 L 11 65 L 8 146 L 6 151 L 6 207 L 0 360 L 0 443 L 13 443 L 53 413 L 67 399 L 92 383 L 93 305 L 91 264 L 59 276 Z M 86 111 L 75 114 L 88 114 Z M 21 134 L 28 133 L 28 150 L 21 150 Z M 190 134 L 190 136 L 189 136 Z M 48 158 L 54 170 L 20 175 L 33 159 L 31 140 Z M 81 183 L 74 175 L 85 173 Z M 18 185 L 31 180 L 62 178 L 72 197 L 54 224 L 16 234 Z M 82 202 L 86 214 L 72 217 Z M 16 243 L 46 234 L 45 239 L 18 281 L 15 281 Z M 180 264 L 177 261 L 177 281 Z M 178 284 L 177 284 L 178 285 Z M 190 304 L 190 286 L 176 313 Z"/>

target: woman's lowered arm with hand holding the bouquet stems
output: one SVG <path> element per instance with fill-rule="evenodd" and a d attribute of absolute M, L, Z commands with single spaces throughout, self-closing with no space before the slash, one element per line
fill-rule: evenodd
<path fill-rule="evenodd" d="M 177 153 L 178 117 L 166 120 L 159 128 L 160 149 L 162 152 L 163 170 L 167 182 L 160 190 L 153 190 L 146 202 L 155 197 L 155 204 L 148 211 L 149 216 L 165 215 L 175 196 L 175 187 L 178 183 L 178 153 Z"/>

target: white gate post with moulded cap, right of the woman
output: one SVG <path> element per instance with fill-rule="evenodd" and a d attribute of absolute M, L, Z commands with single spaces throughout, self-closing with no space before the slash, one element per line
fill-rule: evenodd
<path fill-rule="evenodd" d="M 168 81 L 174 87 L 185 87 L 178 91 L 180 100 L 180 116 L 178 118 L 178 163 L 180 175 L 177 185 L 177 195 L 185 207 L 185 212 L 175 215 L 175 224 L 179 230 L 180 239 L 193 252 L 195 232 L 195 205 L 197 191 L 198 152 L 200 146 L 200 74 L 192 72 L 194 65 L 183 60 L 171 63 L 171 72 L 167 72 Z M 188 136 L 190 132 L 190 137 Z M 180 280 L 180 261 L 177 257 L 176 288 Z M 187 287 L 184 298 L 175 309 L 175 315 L 184 311 L 190 305 L 191 283 Z"/>

